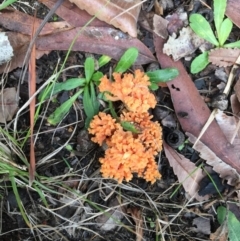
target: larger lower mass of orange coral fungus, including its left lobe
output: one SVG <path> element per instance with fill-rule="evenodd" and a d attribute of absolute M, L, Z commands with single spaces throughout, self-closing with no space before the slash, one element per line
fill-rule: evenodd
<path fill-rule="evenodd" d="M 138 125 L 140 132 L 136 134 L 124 131 L 115 120 L 110 120 L 110 115 L 99 115 L 101 118 L 94 117 L 90 123 L 90 133 L 95 135 L 94 142 L 102 144 L 105 140 L 108 146 L 105 157 L 100 159 L 102 175 L 118 182 L 130 181 L 132 173 L 152 183 L 159 179 L 161 175 L 154 156 L 162 148 L 162 130 L 157 122 L 151 121 L 152 116 L 147 112 L 124 112 L 121 115 L 121 121 Z"/>

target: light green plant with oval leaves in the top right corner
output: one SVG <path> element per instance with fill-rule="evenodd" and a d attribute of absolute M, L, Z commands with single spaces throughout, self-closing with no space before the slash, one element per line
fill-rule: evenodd
<path fill-rule="evenodd" d="M 217 48 L 240 48 L 240 41 L 225 44 L 233 27 L 233 24 L 229 18 L 224 19 L 226 6 L 227 0 L 214 0 L 213 14 L 216 36 L 214 35 L 214 32 L 211 29 L 208 21 L 200 14 L 192 14 L 190 16 L 190 26 L 198 36 L 212 43 Z M 208 53 L 209 51 L 205 51 L 192 61 L 191 73 L 196 74 L 209 64 Z"/>

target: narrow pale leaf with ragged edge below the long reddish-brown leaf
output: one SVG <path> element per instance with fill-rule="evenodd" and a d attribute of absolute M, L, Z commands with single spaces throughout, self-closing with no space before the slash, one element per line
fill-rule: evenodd
<path fill-rule="evenodd" d="M 197 138 L 191 133 L 186 132 L 186 135 L 189 137 L 189 141 L 191 143 L 195 143 L 195 141 L 197 140 Z M 194 149 L 199 152 L 200 157 L 206 160 L 208 165 L 213 167 L 213 170 L 217 172 L 221 178 L 228 181 L 229 185 L 234 186 L 240 182 L 240 176 L 237 171 L 227 163 L 223 162 L 201 141 L 198 141 L 195 144 Z"/>

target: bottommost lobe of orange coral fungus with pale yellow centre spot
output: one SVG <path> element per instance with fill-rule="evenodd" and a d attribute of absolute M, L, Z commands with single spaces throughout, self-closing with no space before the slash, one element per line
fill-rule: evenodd
<path fill-rule="evenodd" d="M 137 173 L 152 183 L 161 177 L 152 152 L 130 131 L 115 131 L 107 144 L 105 157 L 100 159 L 103 177 L 122 182 L 124 179 L 130 181 L 132 173 Z"/>

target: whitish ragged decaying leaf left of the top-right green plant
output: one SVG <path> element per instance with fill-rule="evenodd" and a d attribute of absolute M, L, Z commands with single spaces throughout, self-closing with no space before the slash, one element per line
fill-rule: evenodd
<path fill-rule="evenodd" d="M 183 28 L 179 37 L 176 36 L 175 33 L 170 36 L 163 47 L 163 53 L 172 55 L 175 61 L 191 55 L 205 43 L 205 40 L 198 37 L 190 27 Z"/>

